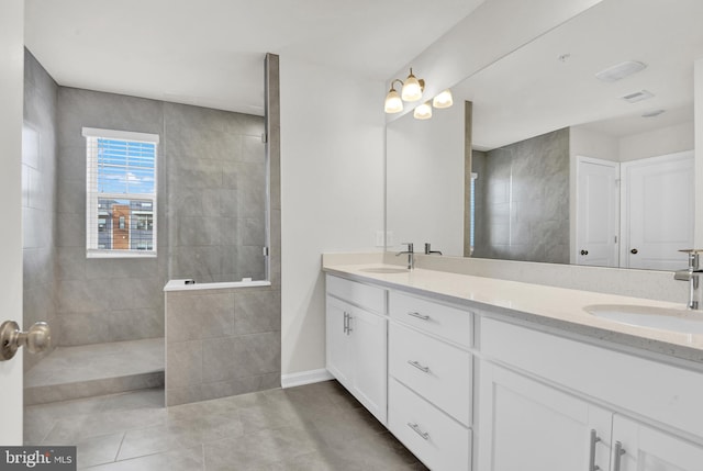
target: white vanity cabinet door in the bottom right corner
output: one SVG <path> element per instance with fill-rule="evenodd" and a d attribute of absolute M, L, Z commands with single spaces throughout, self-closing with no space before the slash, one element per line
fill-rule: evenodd
<path fill-rule="evenodd" d="M 613 447 L 611 470 L 621 471 L 700 471 L 703 448 L 679 437 L 616 415 L 613 419 L 613 442 L 622 445 L 623 453 Z"/>

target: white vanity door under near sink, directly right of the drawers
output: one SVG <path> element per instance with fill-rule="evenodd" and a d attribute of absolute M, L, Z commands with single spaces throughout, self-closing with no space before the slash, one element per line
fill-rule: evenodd
<path fill-rule="evenodd" d="M 607 470 L 612 413 L 487 361 L 480 381 L 478 469 Z"/>

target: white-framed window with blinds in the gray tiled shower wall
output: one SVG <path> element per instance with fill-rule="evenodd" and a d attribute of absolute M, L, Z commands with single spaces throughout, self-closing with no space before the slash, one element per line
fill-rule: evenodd
<path fill-rule="evenodd" d="M 156 256 L 156 134 L 83 127 L 88 257 Z"/>

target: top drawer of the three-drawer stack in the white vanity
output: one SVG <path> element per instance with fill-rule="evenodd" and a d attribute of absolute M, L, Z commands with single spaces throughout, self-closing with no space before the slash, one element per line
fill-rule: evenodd
<path fill-rule="evenodd" d="M 469 311 L 449 307 L 432 301 L 391 291 L 389 311 L 392 318 L 470 347 L 472 318 Z"/>

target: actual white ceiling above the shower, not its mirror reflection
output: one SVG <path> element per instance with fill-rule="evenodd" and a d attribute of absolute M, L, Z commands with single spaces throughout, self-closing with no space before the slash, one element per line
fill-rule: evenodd
<path fill-rule="evenodd" d="M 384 81 L 482 2 L 25 0 L 25 44 L 62 86 L 263 115 L 266 53 Z"/>

